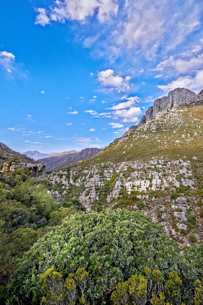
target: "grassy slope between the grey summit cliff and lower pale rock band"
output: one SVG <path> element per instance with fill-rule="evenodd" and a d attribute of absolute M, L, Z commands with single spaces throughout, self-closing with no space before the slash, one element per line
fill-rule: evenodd
<path fill-rule="evenodd" d="M 135 160 L 147 162 L 152 157 L 161 156 L 165 159 L 186 156 L 188 160 L 196 157 L 197 161 L 203 161 L 203 105 L 169 110 L 162 120 L 153 119 L 146 127 L 134 130 L 123 141 L 112 143 L 95 157 L 81 162 L 80 166 Z"/>

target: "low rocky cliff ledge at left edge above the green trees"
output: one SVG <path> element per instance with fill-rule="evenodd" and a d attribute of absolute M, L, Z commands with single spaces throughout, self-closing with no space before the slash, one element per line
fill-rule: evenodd
<path fill-rule="evenodd" d="M 2 167 L 3 172 L 14 172 L 17 169 L 29 169 L 32 177 L 44 178 L 46 165 L 42 163 L 22 163 L 22 162 L 5 162 Z"/>

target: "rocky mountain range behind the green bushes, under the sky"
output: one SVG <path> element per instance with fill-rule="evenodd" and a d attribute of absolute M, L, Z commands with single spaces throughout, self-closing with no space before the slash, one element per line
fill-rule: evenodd
<path fill-rule="evenodd" d="M 15 156 L 5 148 L 2 161 Z M 40 161 L 58 167 L 47 177 L 54 191 L 87 211 L 142 210 L 183 246 L 203 242 L 203 91 L 177 88 L 156 99 L 138 125 L 102 151 Z"/>

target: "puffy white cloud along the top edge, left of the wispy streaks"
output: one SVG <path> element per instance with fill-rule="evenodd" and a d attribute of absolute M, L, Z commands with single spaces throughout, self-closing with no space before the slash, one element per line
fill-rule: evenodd
<path fill-rule="evenodd" d="M 117 0 L 56 0 L 48 10 L 37 8 L 35 24 L 45 26 L 51 21 L 64 23 L 68 19 L 85 21 L 88 16 L 97 15 L 104 22 L 118 12 Z"/>

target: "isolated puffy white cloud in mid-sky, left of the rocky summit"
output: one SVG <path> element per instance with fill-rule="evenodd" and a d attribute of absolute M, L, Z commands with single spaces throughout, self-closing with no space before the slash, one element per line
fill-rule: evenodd
<path fill-rule="evenodd" d="M 114 71 L 111 69 L 101 71 L 97 76 L 101 85 L 116 89 L 118 92 L 130 89 L 130 76 L 126 76 L 125 78 L 118 75 L 114 76 Z"/>

